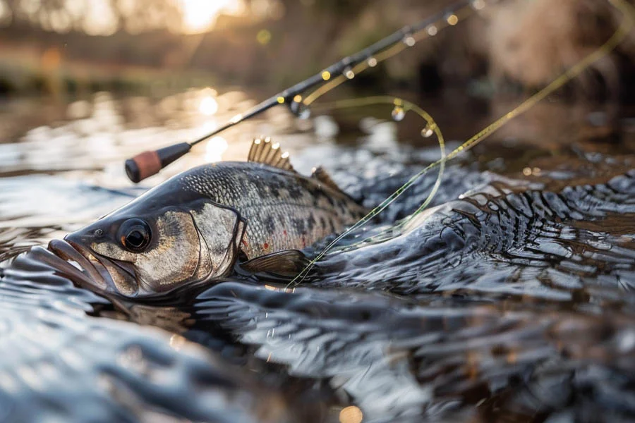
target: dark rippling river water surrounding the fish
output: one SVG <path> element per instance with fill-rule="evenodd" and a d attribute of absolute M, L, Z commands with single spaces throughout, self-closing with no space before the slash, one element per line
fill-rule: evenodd
<path fill-rule="evenodd" d="M 192 90 L 4 107 L 4 419 L 635 417 L 633 131 L 624 122 L 621 143 L 591 142 L 565 104 L 540 104 L 449 163 L 430 207 L 408 219 L 437 174 L 423 176 L 298 286 L 231 277 L 152 300 L 103 298 L 71 264 L 31 249 L 186 168 L 243 159 L 255 135 L 274 137 L 303 173 L 322 164 L 367 207 L 439 157 L 425 124 L 394 122 L 389 107 L 303 120 L 279 108 L 143 186 L 128 183 L 123 159 L 253 104 L 242 92 Z M 422 105 L 452 149 L 511 104 Z"/>

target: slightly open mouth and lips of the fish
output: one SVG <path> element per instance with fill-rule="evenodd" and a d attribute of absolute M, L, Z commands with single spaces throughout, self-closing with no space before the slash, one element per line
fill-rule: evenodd
<path fill-rule="evenodd" d="M 138 290 L 134 270 L 129 269 L 126 263 L 119 263 L 102 255 L 94 254 L 91 250 L 74 243 L 72 240 L 51 240 L 48 250 L 66 262 L 75 262 L 80 266 L 84 278 L 78 282 L 83 285 L 82 288 L 91 290 L 97 288 L 97 290 L 108 293 L 119 293 L 111 275 L 111 271 L 116 271 L 127 281 L 133 281 L 133 289 Z M 75 267 L 73 266 L 73 268 Z"/>

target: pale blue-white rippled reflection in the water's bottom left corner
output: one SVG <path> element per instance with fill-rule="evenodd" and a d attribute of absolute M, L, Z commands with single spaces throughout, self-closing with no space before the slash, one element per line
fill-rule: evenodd
<path fill-rule="evenodd" d="M 18 258 L 2 279 L 0 403 L 8 421 L 289 421 L 280 396 L 200 346 L 90 317 L 104 308 L 108 315 L 108 302 L 44 264 L 47 254 Z"/>

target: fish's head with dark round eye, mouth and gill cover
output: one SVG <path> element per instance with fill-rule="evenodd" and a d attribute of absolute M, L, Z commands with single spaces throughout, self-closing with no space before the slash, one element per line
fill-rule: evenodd
<path fill-rule="evenodd" d="M 98 288 L 137 297 L 226 276 L 243 232 L 243 220 L 234 209 L 200 195 L 148 192 L 66 235 L 66 245 L 52 243 L 49 248 L 75 259 Z"/>

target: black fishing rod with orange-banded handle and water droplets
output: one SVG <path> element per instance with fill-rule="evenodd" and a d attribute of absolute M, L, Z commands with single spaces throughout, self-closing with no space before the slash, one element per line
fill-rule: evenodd
<path fill-rule="evenodd" d="M 491 0 L 490 0 L 491 1 Z M 231 128 L 234 125 L 238 125 L 242 121 L 246 121 L 253 116 L 261 114 L 263 111 L 271 109 L 274 106 L 278 106 L 280 104 L 286 104 L 291 109 L 291 112 L 296 116 L 300 115 L 304 108 L 306 107 L 303 104 L 302 95 L 303 92 L 309 90 L 310 88 L 316 87 L 318 85 L 323 85 L 327 83 L 327 81 L 332 78 L 340 77 L 341 75 L 346 76 L 346 78 L 352 78 L 354 76 L 353 71 L 351 70 L 354 67 L 358 67 L 361 63 L 366 62 L 368 66 L 366 67 L 374 67 L 377 66 L 382 60 L 387 59 L 391 55 L 385 56 L 383 59 L 376 59 L 374 56 L 382 53 L 382 51 L 387 51 L 391 47 L 398 45 L 399 43 L 403 43 L 406 47 L 412 47 L 416 39 L 414 38 L 417 34 L 426 31 L 427 35 L 434 36 L 439 30 L 437 25 L 440 22 L 445 23 L 446 25 L 456 25 L 459 22 L 458 12 L 463 10 L 464 8 L 469 7 L 473 10 L 480 10 L 485 7 L 485 0 L 459 0 L 456 1 L 451 6 L 444 8 L 444 10 L 436 13 L 425 20 L 422 20 L 415 25 L 407 25 L 401 30 L 394 32 L 393 34 L 380 39 L 380 41 L 375 42 L 370 47 L 366 47 L 365 49 L 359 51 L 356 54 L 352 54 L 351 56 L 346 56 L 344 59 L 341 59 L 337 63 L 332 64 L 331 66 L 325 68 L 320 73 L 317 73 L 302 82 L 298 82 L 296 85 L 287 88 L 286 90 L 275 94 L 274 96 L 266 99 L 264 102 L 261 102 L 257 106 L 254 106 L 252 109 L 246 111 L 243 114 L 237 114 L 233 118 L 231 118 L 227 123 L 220 126 L 219 128 L 213 130 L 207 135 L 203 135 L 197 140 L 193 140 L 191 142 L 180 142 L 179 144 L 170 145 L 168 147 L 163 147 L 154 151 L 147 151 L 140 154 L 137 154 L 135 157 L 126 160 L 126 175 L 130 178 L 134 183 L 138 183 L 145 178 L 148 178 L 156 173 L 159 173 L 162 168 L 168 166 L 176 159 L 179 159 L 183 155 L 187 154 L 194 145 L 197 145 L 199 142 L 205 141 L 218 133 L 222 133 L 224 130 Z"/>

